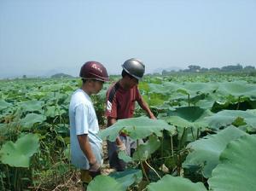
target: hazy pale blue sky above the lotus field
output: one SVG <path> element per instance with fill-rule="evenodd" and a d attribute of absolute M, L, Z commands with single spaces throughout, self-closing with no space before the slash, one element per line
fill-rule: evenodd
<path fill-rule="evenodd" d="M 0 0 L 0 78 L 162 67 L 256 66 L 255 0 Z"/>

